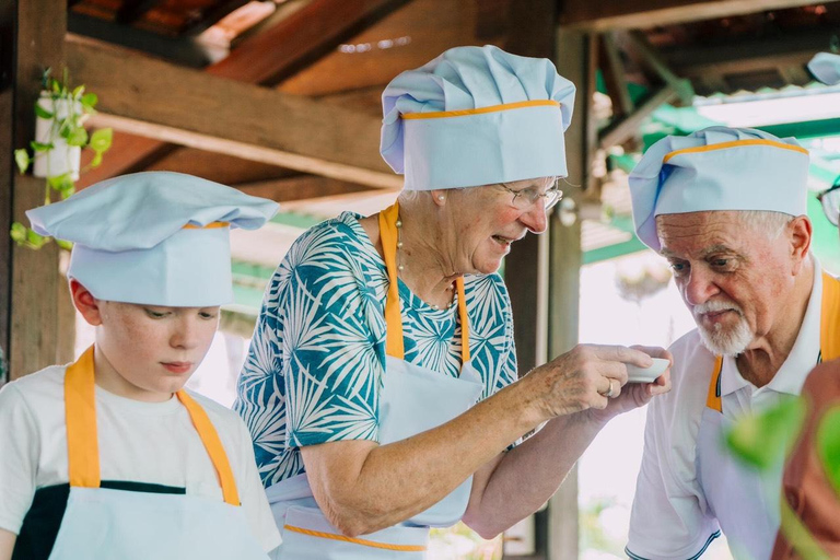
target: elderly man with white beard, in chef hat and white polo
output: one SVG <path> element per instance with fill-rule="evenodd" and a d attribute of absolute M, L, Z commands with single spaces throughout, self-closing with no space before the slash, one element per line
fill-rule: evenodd
<path fill-rule="evenodd" d="M 670 348 L 673 390 L 649 409 L 633 559 L 698 558 L 721 532 L 736 557 L 770 557 L 781 460 L 762 483 L 721 438 L 798 395 L 821 359 L 824 288 L 838 282 L 809 252 L 807 170 L 792 139 L 713 127 L 658 141 L 630 176 L 637 233 L 668 259 L 698 327 Z"/>

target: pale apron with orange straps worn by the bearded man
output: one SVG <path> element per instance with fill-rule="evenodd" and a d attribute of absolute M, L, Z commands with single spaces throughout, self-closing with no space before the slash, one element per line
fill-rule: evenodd
<path fill-rule="evenodd" d="M 840 281 L 822 273 L 820 360 L 840 357 Z M 722 357 L 718 357 L 709 384 L 707 408 L 697 435 L 696 471 L 707 503 L 726 535 L 733 552 L 749 560 L 767 560 L 779 530 L 782 469 L 758 471 L 740 463 L 726 448 L 724 435 L 732 420 L 723 416 Z M 737 556 L 742 558 L 742 556 Z"/>

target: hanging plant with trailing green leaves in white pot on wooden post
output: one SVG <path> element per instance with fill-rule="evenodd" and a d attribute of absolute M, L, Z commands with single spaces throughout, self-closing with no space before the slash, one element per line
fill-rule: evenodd
<path fill-rule="evenodd" d="M 103 128 L 88 135 L 84 121 L 95 113 L 98 98 L 94 93 L 85 93 L 84 85 L 71 88 L 67 70 L 59 81 L 50 75 L 49 69 L 44 72 L 42 92 L 35 103 L 35 140 L 30 142 L 30 150 L 14 151 L 14 161 L 21 174 L 32 165 L 33 175 L 46 179 L 44 205 L 51 202 L 52 192 L 61 199 L 75 192 L 75 182 L 79 179 L 82 149 L 93 150 L 93 160 L 85 168 L 97 167 L 102 163 L 102 154 L 110 148 L 114 132 Z M 14 222 L 10 231 L 12 240 L 18 245 L 38 249 L 49 242 L 45 237 L 26 228 L 21 222 Z M 56 240 L 65 248 L 70 248 L 68 242 Z"/>

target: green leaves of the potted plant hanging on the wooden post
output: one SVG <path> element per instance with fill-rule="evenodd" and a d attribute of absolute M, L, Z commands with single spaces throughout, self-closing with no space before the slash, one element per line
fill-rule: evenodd
<path fill-rule="evenodd" d="M 14 162 L 21 174 L 26 173 L 30 165 L 35 161 L 36 154 L 46 154 L 56 148 L 56 142 L 63 139 L 69 147 L 81 149 L 91 149 L 93 160 L 89 167 L 97 167 L 102 163 L 102 155 L 110 148 L 114 132 L 109 128 L 95 130 L 88 135 L 84 128 L 84 120 L 88 116 L 95 113 L 94 107 L 100 101 L 96 94 L 85 93 L 84 85 L 70 88 L 67 70 L 62 79 L 57 80 L 50 75 L 49 69 L 44 72 L 42 79 L 42 98 L 46 97 L 51 102 L 52 110 L 49 110 L 39 103 L 35 103 L 35 116 L 50 121 L 49 135 L 47 141 L 32 141 L 30 149 L 32 155 L 25 149 L 14 151 Z M 60 114 L 59 107 L 66 106 L 66 115 Z M 40 139 L 44 140 L 44 139 Z M 46 191 L 44 194 L 44 205 L 49 205 L 52 200 L 52 192 L 58 194 L 61 200 L 66 199 L 75 191 L 75 183 L 70 172 L 61 175 L 47 177 Z M 49 237 L 38 235 L 20 222 L 15 222 L 9 232 L 12 240 L 20 246 L 38 249 L 49 242 Z M 72 244 L 66 241 L 57 240 L 62 248 L 71 248 Z"/>

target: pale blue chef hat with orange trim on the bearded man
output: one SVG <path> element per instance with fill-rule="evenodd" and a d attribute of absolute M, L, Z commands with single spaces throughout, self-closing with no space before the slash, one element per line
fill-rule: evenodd
<path fill-rule="evenodd" d="M 711 127 L 653 144 L 630 174 L 639 238 L 660 250 L 656 217 L 708 210 L 807 213 L 808 151 L 793 138 Z"/>

